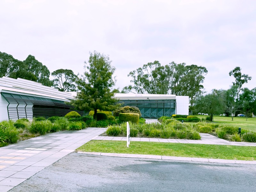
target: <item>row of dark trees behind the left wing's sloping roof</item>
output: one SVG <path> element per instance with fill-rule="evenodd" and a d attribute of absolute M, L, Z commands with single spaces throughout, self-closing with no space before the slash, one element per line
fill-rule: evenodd
<path fill-rule="evenodd" d="M 77 76 L 72 70 L 57 69 L 51 75 L 54 77 L 52 81 L 49 79 L 49 69 L 33 55 L 28 55 L 26 60 L 20 61 L 10 54 L 0 52 L 0 77 L 22 78 L 53 86 L 60 91 L 76 91 Z"/>

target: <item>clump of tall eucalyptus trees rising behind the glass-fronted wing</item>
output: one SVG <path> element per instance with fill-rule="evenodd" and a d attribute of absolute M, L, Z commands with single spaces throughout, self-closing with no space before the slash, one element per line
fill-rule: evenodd
<path fill-rule="evenodd" d="M 133 85 L 125 86 L 122 92 L 186 95 L 193 106 L 194 97 L 204 89 L 202 83 L 207 72 L 202 66 L 173 61 L 161 66 L 159 61 L 154 61 L 131 71 L 128 76 L 132 77 Z"/>

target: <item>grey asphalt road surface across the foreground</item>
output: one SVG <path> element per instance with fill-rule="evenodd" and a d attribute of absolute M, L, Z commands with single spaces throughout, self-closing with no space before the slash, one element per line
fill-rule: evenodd
<path fill-rule="evenodd" d="M 256 166 L 71 153 L 11 192 L 256 191 Z"/>

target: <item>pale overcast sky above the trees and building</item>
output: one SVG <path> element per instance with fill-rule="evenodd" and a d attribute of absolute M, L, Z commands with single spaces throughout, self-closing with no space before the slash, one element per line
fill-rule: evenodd
<path fill-rule="evenodd" d="M 94 50 L 109 55 L 116 88 L 158 60 L 204 66 L 205 91 L 228 89 L 235 67 L 256 87 L 255 0 L 0 0 L 0 51 L 29 54 L 50 72 L 84 72 Z"/>

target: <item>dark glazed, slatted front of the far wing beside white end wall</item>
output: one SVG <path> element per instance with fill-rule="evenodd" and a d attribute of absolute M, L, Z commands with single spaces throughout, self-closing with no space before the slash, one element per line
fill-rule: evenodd
<path fill-rule="evenodd" d="M 176 110 L 176 100 L 120 100 L 118 103 L 138 107 L 143 118 L 170 117 Z"/>

